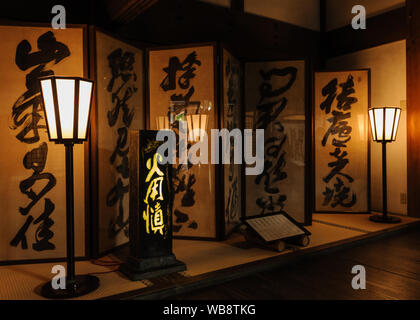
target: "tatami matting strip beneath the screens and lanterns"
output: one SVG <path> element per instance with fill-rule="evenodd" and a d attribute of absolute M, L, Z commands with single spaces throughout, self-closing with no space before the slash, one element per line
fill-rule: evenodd
<path fill-rule="evenodd" d="M 420 221 L 408 217 L 401 218 L 403 222 L 397 226 Z M 304 251 L 324 245 L 334 245 L 338 241 L 396 227 L 396 225 L 371 222 L 366 214 L 318 213 L 313 215 L 313 221 L 313 225 L 307 227 L 312 233 L 310 245 L 294 250 Z M 242 235 L 233 234 L 223 242 L 174 240 L 174 253 L 187 265 L 187 271 L 183 274 L 193 277 L 291 253 L 291 250 L 278 253 L 249 246 Z M 101 260 L 109 263 L 115 262 L 116 258 L 107 256 Z M 53 265 L 54 263 L 0 266 L 0 299 L 42 299 L 38 294 L 39 287 L 52 279 Z M 118 271 L 112 272 L 115 268 L 116 266 L 100 266 L 89 261 L 77 262 L 77 274 L 95 274 L 101 282 L 98 290 L 79 299 L 98 299 L 145 288 L 145 283 L 152 285 L 153 281 L 144 283 L 130 281 Z"/>

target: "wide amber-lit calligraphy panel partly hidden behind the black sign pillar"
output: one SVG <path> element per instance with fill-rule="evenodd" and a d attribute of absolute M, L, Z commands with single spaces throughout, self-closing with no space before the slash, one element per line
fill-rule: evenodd
<path fill-rule="evenodd" d="M 151 49 L 149 65 L 149 129 L 167 116 L 176 101 L 206 105 L 206 132 L 216 127 L 214 46 Z M 188 146 L 190 148 L 191 145 Z M 209 147 L 209 155 L 210 147 Z M 214 165 L 173 165 L 173 235 L 216 237 Z"/>

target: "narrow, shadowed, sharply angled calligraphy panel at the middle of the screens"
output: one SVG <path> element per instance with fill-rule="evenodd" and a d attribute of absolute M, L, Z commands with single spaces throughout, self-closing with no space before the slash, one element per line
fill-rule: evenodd
<path fill-rule="evenodd" d="M 242 128 L 242 67 L 229 51 L 223 49 L 223 128 Z M 234 164 L 234 139 L 230 144 L 230 164 L 224 165 L 225 235 L 240 223 L 242 210 L 242 175 L 240 164 Z"/>

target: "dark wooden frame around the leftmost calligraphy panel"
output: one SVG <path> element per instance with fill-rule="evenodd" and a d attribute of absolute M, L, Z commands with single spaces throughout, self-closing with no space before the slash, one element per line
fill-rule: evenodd
<path fill-rule="evenodd" d="M 0 26 L 1 27 L 38 27 L 38 28 L 50 28 L 51 24 L 49 23 L 35 23 L 35 22 L 18 22 L 18 21 L 10 21 L 10 20 L 3 20 L 0 19 Z M 66 28 L 69 29 L 82 29 L 83 32 L 83 77 L 92 80 L 90 74 L 90 61 L 89 61 L 89 34 L 88 34 L 88 26 L 87 24 L 67 24 Z M 52 29 L 54 30 L 54 29 Z M 92 107 L 93 107 L 93 100 L 92 100 Z M 90 121 L 90 125 L 88 124 L 88 135 L 90 136 L 91 133 L 91 124 L 92 118 Z M 91 255 L 91 246 L 90 246 L 90 239 L 91 239 L 91 221 L 90 221 L 90 153 L 89 153 L 89 145 L 90 139 L 87 143 L 83 144 L 83 157 L 84 157 L 84 194 L 85 194 L 85 212 L 84 212 L 84 221 L 85 221 L 85 254 L 83 256 L 75 257 L 76 261 L 85 261 L 88 260 Z M 63 148 L 64 152 L 64 148 Z M 50 263 L 50 262 L 65 262 L 67 257 L 60 257 L 60 258 L 46 258 L 46 259 L 18 259 L 18 260 L 0 260 L 0 266 L 2 265 L 18 265 L 18 264 L 33 264 L 33 263 Z"/>

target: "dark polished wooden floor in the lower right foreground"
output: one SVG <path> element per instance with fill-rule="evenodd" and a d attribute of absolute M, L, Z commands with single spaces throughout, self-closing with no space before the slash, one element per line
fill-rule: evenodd
<path fill-rule="evenodd" d="M 354 265 L 366 290 L 351 286 Z M 294 265 L 170 299 L 420 299 L 420 230 L 378 239 Z"/>

